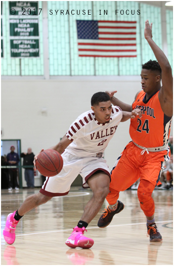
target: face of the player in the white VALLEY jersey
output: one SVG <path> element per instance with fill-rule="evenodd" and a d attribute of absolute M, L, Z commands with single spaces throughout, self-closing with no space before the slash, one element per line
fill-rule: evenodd
<path fill-rule="evenodd" d="M 91 107 L 95 113 L 95 117 L 100 123 L 107 123 L 110 120 L 112 105 L 111 101 L 100 102 L 99 105 Z"/>

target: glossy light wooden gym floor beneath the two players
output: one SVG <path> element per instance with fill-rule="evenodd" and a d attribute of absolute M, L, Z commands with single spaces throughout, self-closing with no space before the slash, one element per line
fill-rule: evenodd
<path fill-rule="evenodd" d="M 137 191 L 127 190 L 119 198 L 125 204 L 124 210 L 113 217 L 107 228 L 97 227 L 106 200 L 88 226 L 85 236 L 94 239 L 94 246 L 69 248 L 65 241 L 92 195 L 90 189 L 72 187 L 67 196 L 55 197 L 24 215 L 16 228 L 15 243 L 8 245 L 3 238 L 7 215 L 38 191 L 38 188 L 2 190 L 2 265 L 173 265 L 171 190 L 153 192 L 162 242 L 150 243 Z"/>

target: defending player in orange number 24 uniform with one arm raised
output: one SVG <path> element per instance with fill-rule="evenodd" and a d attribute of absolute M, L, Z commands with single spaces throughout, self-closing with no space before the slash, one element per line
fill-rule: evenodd
<path fill-rule="evenodd" d="M 126 111 L 139 108 L 143 116 L 130 119 L 129 134 L 132 142 L 127 144 L 112 169 L 110 192 L 106 197 L 109 205 L 101 215 L 98 226 L 103 228 L 110 224 L 114 214 L 124 208 L 124 204 L 118 201 L 119 192 L 126 190 L 140 178 L 137 194 L 140 207 L 147 218 L 150 241 L 162 241 L 155 224 L 152 192 L 160 184 L 162 169 L 169 159 L 173 81 L 167 58 L 152 40 L 152 23 L 149 25 L 148 20 L 145 22 L 144 35 L 158 62 L 150 60 L 142 65 L 143 91 L 137 93 L 132 106 L 113 97 L 116 91 L 107 92 L 112 104 Z"/>

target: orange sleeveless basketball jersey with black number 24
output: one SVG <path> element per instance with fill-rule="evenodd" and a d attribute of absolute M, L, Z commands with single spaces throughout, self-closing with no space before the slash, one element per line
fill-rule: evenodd
<path fill-rule="evenodd" d="M 167 144 L 170 134 L 171 117 L 163 113 L 158 94 L 159 91 L 146 101 L 142 91 L 133 103 L 133 110 L 142 110 L 142 118 L 130 119 L 129 134 L 135 143 L 146 148 Z"/>

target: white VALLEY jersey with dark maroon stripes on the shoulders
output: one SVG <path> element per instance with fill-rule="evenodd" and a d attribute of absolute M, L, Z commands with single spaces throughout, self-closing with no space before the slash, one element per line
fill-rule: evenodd
<path fill-rule="evenodd" d="M 78 157 L 103 157 L 121 119 L 122 111 L 118 106 L 112 106 L 110 121 L 103 124 L 96 120 L 92 110 L 81 114 L 66 133 L 72 141 L 66 151 Z"/>

